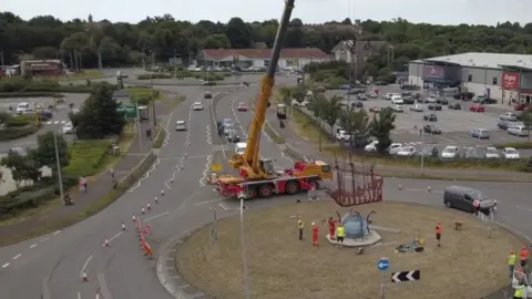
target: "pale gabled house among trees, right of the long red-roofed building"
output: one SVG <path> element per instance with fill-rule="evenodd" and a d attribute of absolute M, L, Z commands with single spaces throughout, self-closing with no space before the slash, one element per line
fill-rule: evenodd
<path fill-rule="evenodd" d="M 358 78 L 359 70 L 364 70 L 368 58 L 387 45 L 386 41 L 340 41 L 332 48 L 330 55 L 336 61 L 354 63 L 354 73 Z"/>

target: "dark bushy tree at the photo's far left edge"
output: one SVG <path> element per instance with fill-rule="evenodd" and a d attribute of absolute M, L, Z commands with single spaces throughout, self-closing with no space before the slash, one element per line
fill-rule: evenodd
<path fill-rule="evenodd" d="M 22 182 L 34 183 L 41 179 L 41 166 L 34 159 L 33 153 L 22 156 L 11 152 L 1 159 L 0 165 L 11 171 L 11 177 L 17 188 Z"/>

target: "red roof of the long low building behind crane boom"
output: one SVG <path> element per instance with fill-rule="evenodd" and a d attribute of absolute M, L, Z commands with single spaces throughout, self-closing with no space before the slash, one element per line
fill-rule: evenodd
<path fill-rule="evenodd" d="M 202 50 L 205 58 L 213 60 L 223 60 L 232 58 L 234 54 L 249 59 L 267 60 L 272 55 L 272 49 L 205 49 Z M 282 59 L 329 59 L 329 56 L 318 48 L 283 49 Z"/>

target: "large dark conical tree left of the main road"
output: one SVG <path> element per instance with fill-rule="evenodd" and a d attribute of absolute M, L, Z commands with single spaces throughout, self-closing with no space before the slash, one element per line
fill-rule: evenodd
<path fill-rule="evenodd" d="M 113 100 L 113 92 L 111 84 L 94 85 L 81 111 L 70 115 L 79 138 L 99 140 L 122 133 L 125 121 L 116 111 L 119 103 Z"/>

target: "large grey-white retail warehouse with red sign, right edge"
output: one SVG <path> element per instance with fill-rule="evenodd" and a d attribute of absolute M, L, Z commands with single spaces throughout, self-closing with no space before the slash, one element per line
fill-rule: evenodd
<path fill-rule="evenodd" d="M 408 83 L 418 86 L 462 87 L 499 103 L 532 99 L 532 55 L 462 53 L 411 61 Z"/>

